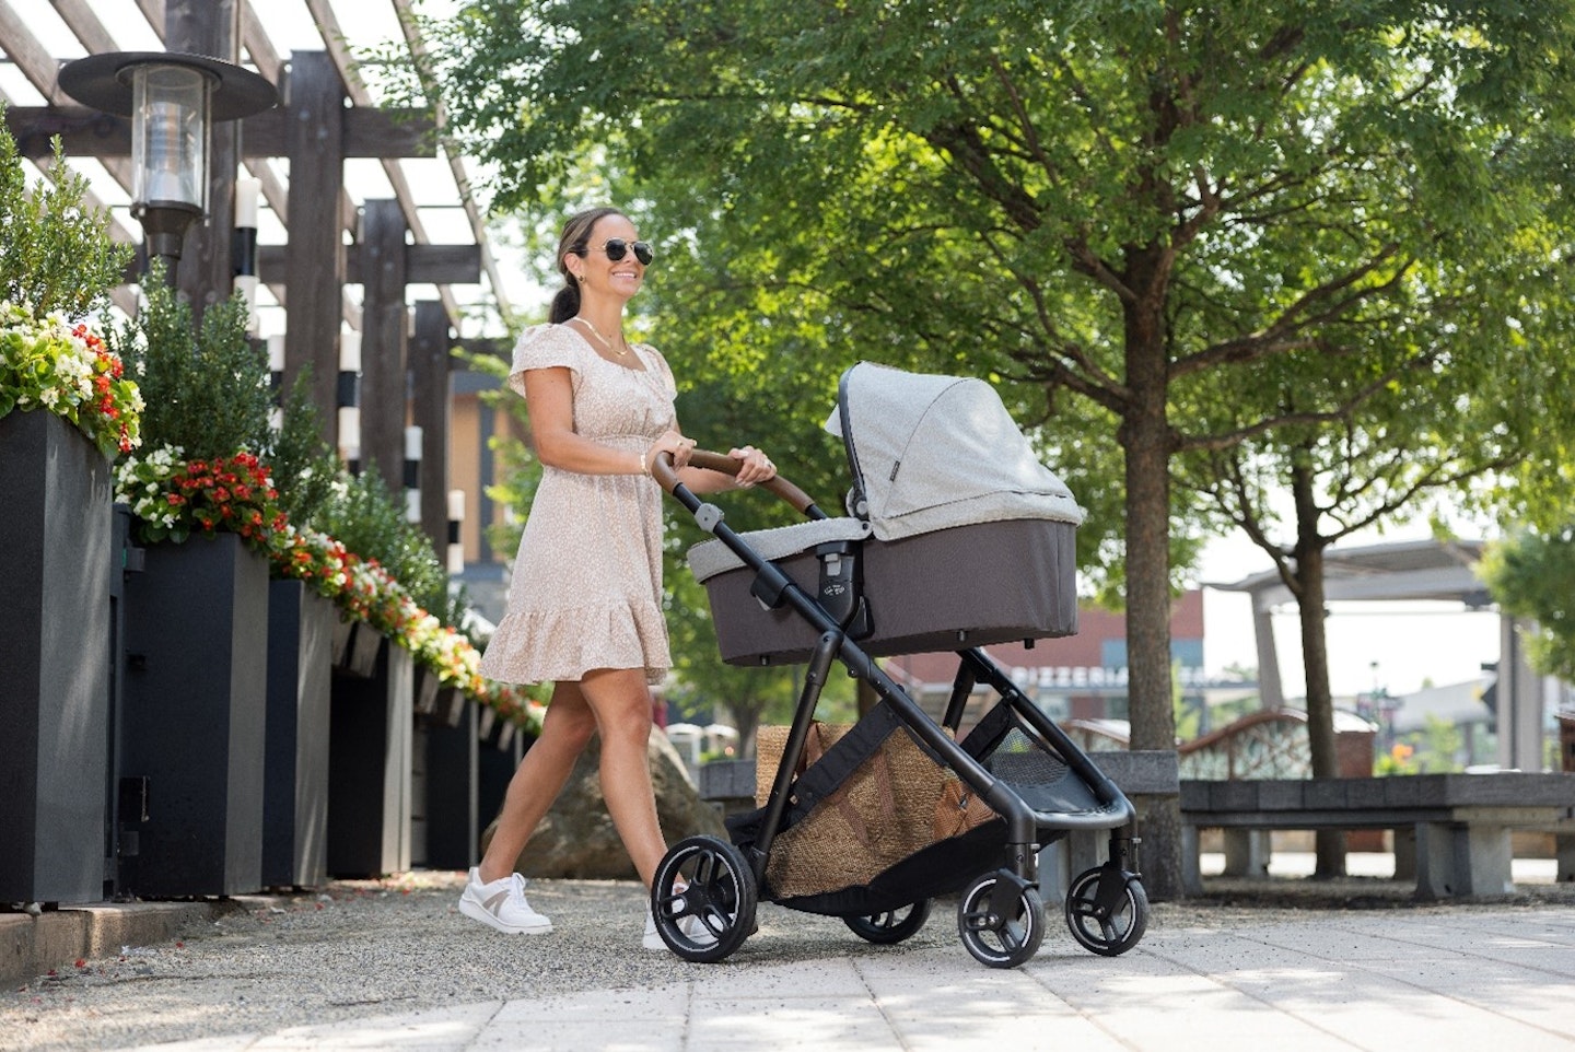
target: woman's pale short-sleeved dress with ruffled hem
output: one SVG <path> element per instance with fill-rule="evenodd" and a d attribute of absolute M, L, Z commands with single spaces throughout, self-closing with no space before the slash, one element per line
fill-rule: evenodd
<path fill-rule="evenodd" d="M 676 425 L 676 387 L 655 348 L 636 343 L 630 351 L 643 372 L 602 357 L 570 326 L 534 326 L 515 343 L 509 386 L 524 397 L 526 370 L 562 365 L 573 381 L 575 433 L 644 452 Z M 509 608 L 480 674 L 543 683 L 639 668 L 660 683 L 673 665 L 662 616 L 662 501 L 649 476 L 543 468 Z"/>

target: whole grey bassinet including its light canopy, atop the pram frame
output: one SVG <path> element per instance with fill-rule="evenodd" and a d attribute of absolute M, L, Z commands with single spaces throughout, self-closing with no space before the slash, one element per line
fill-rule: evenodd
<path fill-rule="evenodd" d="M 1077 632 L 1082 509 L 994 387 L 862 362 L 844 373 L 827 430 L 847 449 L 854 517 L 740 537 L 827 605 L 854 587 L 863 611 L 849 636 L 866 654 Z M 762 606 L 753 572 L 726 545 L 696 545 L 690 569 L 706 584 L 724 661 L 808 657 L 816 627 Z"/>

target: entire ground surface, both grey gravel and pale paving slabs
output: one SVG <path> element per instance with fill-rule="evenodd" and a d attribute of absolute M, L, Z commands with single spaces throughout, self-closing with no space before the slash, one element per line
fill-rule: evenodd
<path fill-rule="evenodd" d="M 449 906 L 457 883 L 386 885 L 326 909 L 261 906 L 222 937 L 189 942 L 167 970 L 153 958 L 137 975 L 13 995 L 0 1002 L 0 1047 L 1575 1050 L 1567 888 L 1422 907 L 1361 895 L 1373 882 L 1358 880 L 1347 901 L 1369 909 L 1328 909 L 1343 895 L 1328 885 L 1315 899 L 1325 907 L 1299 909 L 1287 888 L 1301 882 L 1276 882 L 1274 906 L 1251 904 L 1258 883 L 1156 906 L 1142 943 L 1114 959 L 1080 950 L 1052 917 L 1038 956 L 1016 970 L 969 956 L 954 902 L 937 902 L 899 946 L 764 906 L 761 932 L 737 954 L 691 965 L 641 956 L 633 885 L 532 885 L 558 926 L 539 939 L 466 921 Z M 356 972 L 364 986 L 346 986 Z M 421 1003 L 410 989 L 435 997 Z M 482 989 L 502 995 L 466 995 Z M 93 1028 L 110 1017 L 120 1030 Z M 202 1036 L 104 1039 L 161 1027 Z"/>

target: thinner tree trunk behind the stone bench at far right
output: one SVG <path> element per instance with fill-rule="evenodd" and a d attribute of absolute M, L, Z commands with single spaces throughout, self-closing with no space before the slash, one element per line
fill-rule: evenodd
<path fill-rule="evenodd" d="M 1318 510 L 1314 501 L 1312 474 L 1292 469 L 1292 495 L 1296 501 L 1296 581 L 1299 584 L 1298 620 L 1301 622 L 1301 654 L 1307 690 L 1307 743 L 1312 750 L 1312 776 L 1336 778 L 1340 773 L 1334 743 L 1334 696 L 1329 691 L 1329 643 L 1325 633 L 1323 550 L 1328 543 L 1318 534 Z M 1345 833 L 1318 830 L 1317 868 L 1314 876 L 1345 876 Z"/>

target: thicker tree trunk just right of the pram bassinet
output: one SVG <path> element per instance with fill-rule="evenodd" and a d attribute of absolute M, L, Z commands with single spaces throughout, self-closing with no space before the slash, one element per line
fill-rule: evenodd
<path fill-rule="evenodd" d="M 1170 425 L 1159 302 L 1148 296 L 1126 313 L 1132 400 L 1120 438 L 1126 454 L 1126 663 L 1134 750 L 1173 750 L 1177 734 L 1170 696 Z M 1178 896 L 1180 816 L 1153 814 L 1140 833 L 1148 896 Z"/>

